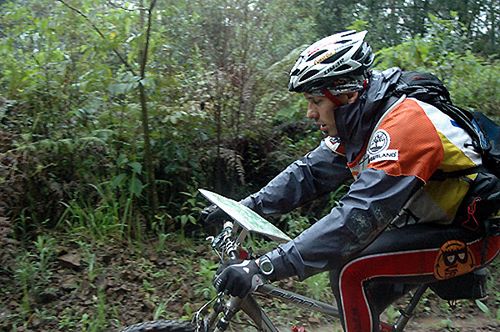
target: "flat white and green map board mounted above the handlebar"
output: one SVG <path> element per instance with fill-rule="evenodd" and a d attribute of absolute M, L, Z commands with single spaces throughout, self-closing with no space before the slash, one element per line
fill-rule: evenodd
<path fill-rule="evenodd" d="M 199 191 L 247 231 L 269 236 L 279 242 L 291 241 L 288 235 L 246 206 L 205 189 L 199 189 Z"/>

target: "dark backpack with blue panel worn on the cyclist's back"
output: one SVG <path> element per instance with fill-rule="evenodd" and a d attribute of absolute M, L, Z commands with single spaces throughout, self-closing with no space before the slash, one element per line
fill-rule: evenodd
<path fill-rule="evenodd" d="M 436 76 L 415 71 L 403 72 L 392 95 L 397 98 L 406 95 L 418 99 L 448 115 L 469 134 L 473 148 L 482 157 L 483 166 L 438 173 L 435 174 L 435 179 L 473 174 L 484 169 L 500 178 L 500 126 L 481 112 L 470 112 L 453 105 L 448 89 Z"/>

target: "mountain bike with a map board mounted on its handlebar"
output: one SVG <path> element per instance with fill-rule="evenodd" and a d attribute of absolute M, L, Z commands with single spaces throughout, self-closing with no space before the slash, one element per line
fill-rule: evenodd
<path fill-rule="evenodd" d="M 277 242 L 290 241 L 290 238 L 280 229 L 264 218 L 239 204 L 216 193 L 200 189 L 200 192 L 212 203 L 219 206 L 233 220 L 225 222 L 222 231 L 213 237 L 208 237 L 210 247 L 220 259 L 220 264 L 229 260 L 254 259 L 245 249 L 245 239 L 249 234 L 260 234 Z M 220 332 L 226 331 L 230 324 L 236 324 L 235 316 L 238 312 L 245 313 L 257 331 L 278 332 L 278 328 L 266 314 L 257 299 L 279 299 L 291 306 L 301 307 L 310 312 L 318 312 L 325 316 L 340 318 L 336 306 L 324 303 L 307 296 L 281 289 L 258 279 L 253 285 L 253 293 L 244 299 L 227 296 L 219 293 L 215 298 L 205 303 L 197 310 L 189 322 L 177 320 L 157 320 L 138 323 L 126 327 L 122 332 Z M 419 285 L 410 295 L 406 307 L 400 310 L 396 323 L 390 325 L 381 322 L 381 331 L 403 331 L 412 316 L 419 300 L 430 284 Z M 434 288 L 433 288 L 434 290 Z M 242 324 L 242 323 L 238 323 Z M 237 328 L 239 329 L 239 328 Z M 292 332 L 304 331 L 303 328 L 292 327 Z"/>

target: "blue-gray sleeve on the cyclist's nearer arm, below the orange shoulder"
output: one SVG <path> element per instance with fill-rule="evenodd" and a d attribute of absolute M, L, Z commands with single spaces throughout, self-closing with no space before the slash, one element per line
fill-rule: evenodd
<path fill-rule="evenodd" d="M 336 269 L 368 246 L 423 186 L 415 176 L 390 176 L 367 169 L 339 205 L 294 240 L 267 254 L 275 278 Z"/>

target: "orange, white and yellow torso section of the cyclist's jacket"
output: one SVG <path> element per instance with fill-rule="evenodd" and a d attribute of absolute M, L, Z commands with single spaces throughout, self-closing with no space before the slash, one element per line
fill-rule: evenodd
<path fill-rule="evenodd" d="M 453 172 L 481 165 L 472 139 L 449 116 L 413 98 L 401 98 L 379 120 L 368 144 L 348 166 L 356 178 L 366 169 L 390 176 L 415 176 L 425 185 L 407 202 L 393 225 L 450 223 L 469 189 L 469 178 L 432 181 L 436 170 Z"/>

